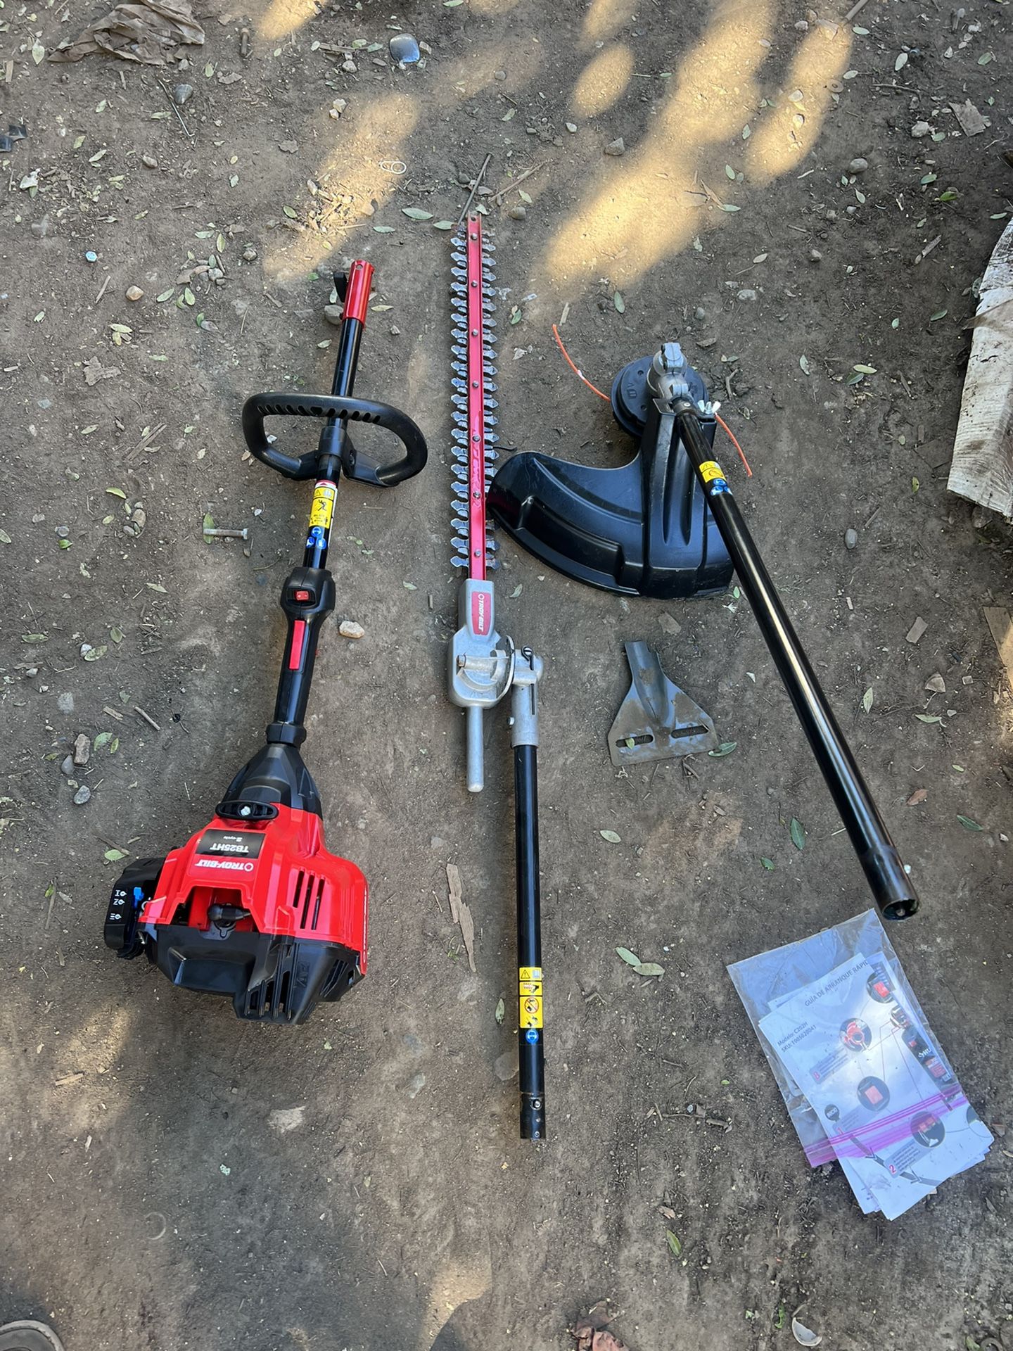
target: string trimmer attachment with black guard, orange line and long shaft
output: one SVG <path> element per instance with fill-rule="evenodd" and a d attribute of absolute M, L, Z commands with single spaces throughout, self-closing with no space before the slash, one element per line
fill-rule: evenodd
<path fill-rule="evenodd" d="M 489 488 L 492 513 L 566 577 L 627 596 L 715 594 L 735 570 L 879 912 L 906 919 L 918 908 L 917 892 L 715 459 L 717 405 L 702 377 L 678 343 L 665 343 L 620 370 L 611 403 L 620 427 L 638 438 L 633 459 L 596 469 L 515 455 Z"/>

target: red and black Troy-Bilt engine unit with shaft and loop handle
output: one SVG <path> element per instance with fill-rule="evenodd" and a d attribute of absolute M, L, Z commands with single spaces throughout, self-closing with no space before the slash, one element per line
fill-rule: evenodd
<path fill-rule="evenodd" d="M 274 720 L 266 744 L 235 775 L 215 816 L 166 858 L 131 863 L 105 916 L 120 957 L 145 952 L 174 985 L 227 994 L 242 1019 L 301 1023 L 366 973 L 366 878 L 324 848 L 320 796 L 298 747 L 320 628 L 334 609 L 327 550 L 346 478 L 389 488 L 425 465 L 425 440 L 388 404 L 353 399 L 373 266 L 336 276 L 344 300 L 330 396 L 254 394 L 243 405 L 253 454 L 286 478 L 315 478 L 303 565 L 281 592 L 288 620 Z M 290 455 L 265 432 L 267 416 L 323 417 L 316 450 Z M 380 463 L 357 451 L 348 423 L 385 427 L 402 454 Z"/>

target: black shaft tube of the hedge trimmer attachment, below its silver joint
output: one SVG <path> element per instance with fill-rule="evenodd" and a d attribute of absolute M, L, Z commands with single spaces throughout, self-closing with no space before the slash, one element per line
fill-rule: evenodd
<path fill-rule="evenodd" d="M 538 880 L 538 747 L 513 747 L 513 802 L 517 843 L 517 975 L 520 1017 L 520 1138 L 546 1138 L 546 1055 L 543 1046 L 542 898 Z"/>

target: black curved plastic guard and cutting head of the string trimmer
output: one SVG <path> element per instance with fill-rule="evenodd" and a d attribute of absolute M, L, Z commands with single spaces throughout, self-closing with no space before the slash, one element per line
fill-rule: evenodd
<path fill-rule="evenodd" d="M 612 385 L 616 422 L 639 439 L 633 459 L 597 469 L 525 451 L 493 478 L 489 509 L 517 543 L 575 581 L 655 600 L 710 596 L 727 589 L 732 561 L 660 397 L 659 357 L 631 362 Z M 686 374 L 713 442 L 706 386 L 692 367 Z"/>

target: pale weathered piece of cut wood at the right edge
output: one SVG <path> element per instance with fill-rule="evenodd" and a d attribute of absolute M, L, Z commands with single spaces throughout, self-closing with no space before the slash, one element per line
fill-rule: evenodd
<path fill-rule="evenodd" d="M 950 492 L 1013 517 L 1013 222 L 982 278 Z"/>

